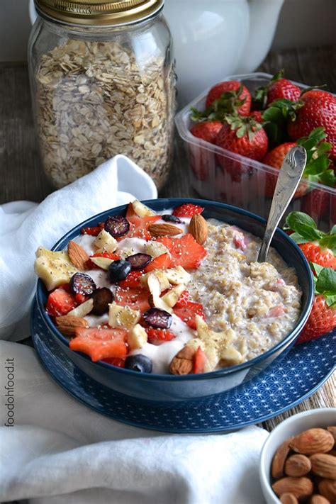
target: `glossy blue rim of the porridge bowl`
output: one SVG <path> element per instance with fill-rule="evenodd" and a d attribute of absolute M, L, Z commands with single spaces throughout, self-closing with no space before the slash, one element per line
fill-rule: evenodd
<path fill-rule="evenodd" d="M 257 215 L 256 213 L 252 213 L 250 211 L 244 210 L 243 208 L 238 208 L 233 205 L 228 205 L 227 203 L 220 203 L 217 201 L 210 201 L 210 200 L 204 200 L 204 199 L 198 199 L 198 198 L 157 198 L 157 199 L 149 199 L 149 200 L 142 200 L 142 203 L 144 203 L 147 206 L 151 206 L 151 203 L 155 202 L 162 202 L 166 206 L 166 208 L 172 208 L 174 206 L 179 206 L 182 203 L 194 203 L 199 206 L 214 206 L 214 207 L 219 207 L 219 208 L 224 208 L 225 210 L 232 211 L 234 213 L 239 213 L 241 215 L 246 215 L 249 218 L 252 218 L 254 220 L 257 220 L 257 222 L 262 223 L 266 225 L 266 219 L 262 218 L 260 215 Z M 108 213 L 113 212 L 114 214 L 118 212 L 125 212 L 125 209 L 127 208 L 127 204 L 117 206 L 114 208 L 109 208 L 106 211 L 103 211 L 101 213 L 97 213 L 96 215 L 91 216 L 90 218 L 87 218 L 84 220 L 82 223 L 79 223 L 78 225 L 74 226 L 71 230 L 69 230 L 65 235 L 63 235 L 60 240 L 58 240 L 55 245 L 52 247 L 51 250 L 63 250 L 65 248 L 65 245 L 67 242 L 71 239 L 73 239 L 75 236 L 79 235 L 80 230 L 82 228 L 85 228 L 86 226 L 90 225 L 93 220 L 99 221 L 99 219 L 104 218 L 105 216 L 108 216 Z M 105 217 L 105 218 L 106 218 Z M 72 236 L 74 235 L 74 236 Z M 230 366 L 228 368 L 222 368 L 218 369 L 216 371 L 211 371 L 208 373 L 200 373 L 200 374 L 186 374 L 186 375 L 172 375 L 172 374 L 152 374 L 152 373 L 141 373 L 139 374 L 138 371 L 132 371 L 131 369 L 125 369 L 125 368 L 120 368 L 118 366 L 112 366 L 111 364 L 108 364 L 107 362 L 102 362 L 102 361 L 96 361 L 93 362 L 91 359 L 89 359 L 89 356 L 86 354 L 83 354 L 82 352 L 76 352 L 77 356 L 84 359 L 86 362 L 89 362 L 89 364 L 95 365 L 102 367 L 103 369 L 107 369 L 109 371 L 113 371 L 116 373 L 122 373 L 122 374 L 128 374 L 130 376 L 138 376 L 138 378 L 141 377 L 141 379 L 145 380 L 153 380 L 157 379 L 159 381 L 189 381 L 189 380 L 203 380 L 205 377 L 206 379 L 217 379 L 220 378 L 220 376 L 226 376 L 233 374 L 238 371 L 242 371 L 246 368 L 250 368 L 252 366 L 255 366 L 259 364 L 260 362 L 264 361 L 268 357 L 271 357 L 272 354 L 275 352 L 278 352 L 279 349 L 282 349 L 283 347 L 286 347 L 291 343 L 291 340 L 295 340 L 296 337 L 300 334 L 301 330 L 303 329 L 303 326 L 306 323 L 306 320 L 308 319 L 308 316 L 310 314 L 310 308 L 313 304 L 313 296 L 314 296 L 314 289 L 313 289 L 313 274 L 311 273 L 310 266 L 308 264 L 308 261 L 306 257 L 304 257 L 303 253 L 301 252 L 301 249 L 296 245 L 293 240 L 285 233 L 283 230 L 280 228 L 276 228 L 276 233 L 275 235 L 280 235 L 282 236 L 285 241 L 288 243 L 289 247 L 293 248 L 293 251 L 296 252 L 298 257 L 301 259 L 301 262 L 303 263 L 304 269 L 306 269 L 306 273 L 308 276 L 308 293 L 307 293 L 307 299 L 306 299 L 306 308 L 301 310 L 301 315 L 300 318 L 298 319 L 296 325 L 293 327 L 293 330 L 289 332 L 289 334 L 284 338 L 284 340 L 281 340 L 277 345 L 272 347 L 271 349 L 267 350 L 267 352 L 264 352 L 261 355 L 258 355 L 257 357 L 254 357 L 254 359 L 251 359 L 247 362 L 242 362 L 242 364 L 237 364 L 235 366 Z M 57 337 L 60 342 L 62 342 L 63 345 L 69 347 L 69 341 L 65 336 L 62 335 L 62 333 L 57 330 L 57 327 L 55 324 L 52 322 L 52 319 L 50 318 L 50 315 L 47 315 L 45 312 L 45 307 L 43 305 L 43 290 L 45 290 L 45 286 L 43 284 L 43 281 L 38 279 L 38 284 L 36 287 L 36 301 L 38 304 L 38 309 L 40 310 L 40 313 L 42 315 L 43 320 L 45 320 L 45 324 L 49 328 L 49 330 Z"/>

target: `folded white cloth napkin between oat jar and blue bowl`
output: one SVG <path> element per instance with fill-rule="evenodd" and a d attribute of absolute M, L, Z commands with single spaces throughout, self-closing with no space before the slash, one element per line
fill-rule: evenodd
<path fill-rule="evenodd" d="M 33 262 L 38 246 L 50 248 L 82 220 L 134 198 L 157 198 L 157 189 L 137 164 L 118 155 L 39 205 L 13 201 L 0 206 L 1 339 L 27 337 L 25 315 L 33 299 Z"/>

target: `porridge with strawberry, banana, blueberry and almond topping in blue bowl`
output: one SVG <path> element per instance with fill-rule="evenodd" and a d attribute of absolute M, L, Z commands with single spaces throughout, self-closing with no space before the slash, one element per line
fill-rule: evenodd
<path fill-rule="evenodd" d="M 295 271 L 261 240 L 194 203 L 82 229 L 67 251 L 40 247 L 45 310 L 69 347 L 133 371 L 193 374 L 246 362 L 291 332 L 301 311 Z"/>

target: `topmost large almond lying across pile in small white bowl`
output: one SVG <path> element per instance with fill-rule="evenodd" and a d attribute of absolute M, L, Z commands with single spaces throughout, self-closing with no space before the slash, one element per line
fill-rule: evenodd
<path fill-rule="evenodd" d="M 294 452 L 313 455 L 329 452 L 334 446 L 331 432 L 325 429 L 308 429 L 292 439 L 289 446 Z"/>

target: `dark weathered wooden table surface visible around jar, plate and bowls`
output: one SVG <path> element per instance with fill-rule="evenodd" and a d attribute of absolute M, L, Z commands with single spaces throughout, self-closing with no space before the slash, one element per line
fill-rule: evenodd
<path fill-rule="evenodd" d="M 281 68 L 286 69 L 289 79 L 309 85 L 325 83 L 328 90 L 336 92 L 336 46 L 272 52 L 259 70 L 273 74 Z M 0 96 L 0 203 L 41 201 L 52 187 L 38 161 L 26 63 L 0 64 Z M 179 142 L 175 151 L 172 174 L 159 196 L 195 196 Z M 313 396 L 263 426 L 271 430 L 294 413 L 331 407 L 335 407 L 335 374 Z"/>

